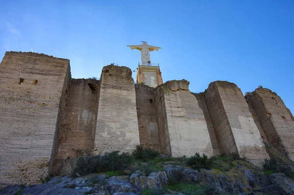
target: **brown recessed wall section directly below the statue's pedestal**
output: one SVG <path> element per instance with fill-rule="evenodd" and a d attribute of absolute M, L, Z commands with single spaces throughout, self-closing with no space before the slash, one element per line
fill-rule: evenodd
<path fill-rule="evenodd" d="M 160 152 L 154 88 L 147 85 L 137 85 L 135 89 L 140 144 Z"/>

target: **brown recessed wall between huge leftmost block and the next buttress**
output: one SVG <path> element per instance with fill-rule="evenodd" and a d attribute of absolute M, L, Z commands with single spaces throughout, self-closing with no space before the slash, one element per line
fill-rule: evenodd
<path fill-rule="evenodd" d="M 75 158 L 94 147 L 99 81 L 72 79 L 69 100 L 58 137 L 54 174 L 68 173 L 63 160 Z"/>

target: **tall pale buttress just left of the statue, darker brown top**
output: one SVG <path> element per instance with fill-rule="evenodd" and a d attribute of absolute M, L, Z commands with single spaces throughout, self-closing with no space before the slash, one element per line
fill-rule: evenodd
<path fill-rule="evenodd" d="M 97 153 L 132 152 L 140 144 L 135 86 L 127 67 L 102 69 L 95 136 Z"/>

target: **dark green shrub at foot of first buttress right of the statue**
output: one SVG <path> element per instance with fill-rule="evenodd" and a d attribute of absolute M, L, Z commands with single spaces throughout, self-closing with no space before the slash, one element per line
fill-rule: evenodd
<path fill-rule="evenodd" d="M 187 165 L 194 169 L 210 169 L 212 167 L 212 163 L 212 158 L 208 158 L 205 154 L 203 154 L 201 157 L 198 152 L 194 156 L 190 157 L 187 161 Z"/>

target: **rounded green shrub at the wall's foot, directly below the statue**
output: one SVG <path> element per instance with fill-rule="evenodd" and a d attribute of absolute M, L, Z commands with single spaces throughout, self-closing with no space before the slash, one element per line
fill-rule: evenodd
<path fill-rule="evenodd" d="M 142 145 L 136 145 L 136 149 L 132 152 L 132 155 L 139 160 L 147 162 L 148 160 L 154 160 L 160 156 L 160 153 L 152 148 L 144 148 Z"/>

